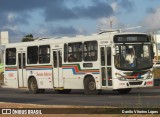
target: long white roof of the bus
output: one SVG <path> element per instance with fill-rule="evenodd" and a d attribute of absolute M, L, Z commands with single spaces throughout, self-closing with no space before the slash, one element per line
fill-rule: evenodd
<path fill-rule="evenodd" d="M 124 34 L 146 34 L 146 33 L 138 33 L 138 32 L 109 32 L 109 33 L 102 33 L 102 34 L 93 34 L 90 36 L 84 35 L 77 35 L 75 37 L 59 37 L 59 38 L 47 38 L 47 39 L 39 39 L 38 41 L 29 41 L 29 42 L 19 42 L 19 43 L 9 43 L 6 44 L 6 47 L 23 47 L 23 46 L 32 46 L 32 45 L 46 45 L 46 44 L 61 44 L 61 43 L 71 43 L 71 42 L 78 42 L 78 41 L 92 41 L 92 40 L 108 40 L 113 42 L 114 35 L 124 35 Z"/>

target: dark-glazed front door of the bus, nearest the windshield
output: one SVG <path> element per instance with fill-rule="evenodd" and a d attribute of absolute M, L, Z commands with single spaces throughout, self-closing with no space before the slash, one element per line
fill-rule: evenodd
<path fill-rule="evenodd" d="M 102 87 L 112 86 L 111 47 L 100 47 Z"/>

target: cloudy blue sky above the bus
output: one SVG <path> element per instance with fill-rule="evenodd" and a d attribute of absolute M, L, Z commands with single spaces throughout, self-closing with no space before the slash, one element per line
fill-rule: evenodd
<path fill-rule="evenodd" d="M 160 0 L 0 0 L 0 31 L 10 42 L 25 35 L 71 37 L 101 29 L 160 30 Z M 130 31 L 130 30 L 129 30 Z"/>

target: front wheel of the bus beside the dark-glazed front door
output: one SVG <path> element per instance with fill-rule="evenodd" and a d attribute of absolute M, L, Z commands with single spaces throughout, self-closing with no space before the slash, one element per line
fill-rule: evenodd
<path fill-rule="evenodd" d="M 93 78 L 86 78 L 84 81 L 84 93 L 86 95 L 100 94 L 101 90 L 96 89 L 96 83 Z"/>

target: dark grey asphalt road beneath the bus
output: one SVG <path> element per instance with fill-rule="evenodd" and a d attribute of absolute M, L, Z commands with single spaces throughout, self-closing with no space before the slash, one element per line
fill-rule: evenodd
<path fill-rule="evenodd" d="M 133 89 L 125 95 L 115 91 L 103 91 L 101 95 L 85 95 L 83 90 L 72 90 L 71 94 L 58 94 L 53 90 L 47 90 L 44 94 L 29 94 L 25 89 L 0 88 L 0 102 L 156 108 L 160 107 L 160 89 Z"/>

